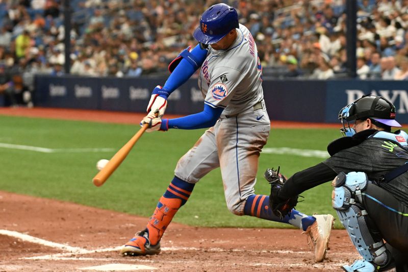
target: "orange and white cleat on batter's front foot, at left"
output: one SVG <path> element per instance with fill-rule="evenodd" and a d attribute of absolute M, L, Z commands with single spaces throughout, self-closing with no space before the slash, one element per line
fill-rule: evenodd
<path fill-rule="evenodd" d="M 120 250 L 123 256 L 155 255 L 160 253 L 160 242 L 151 245 L 147 229 L 136 233 Z"/>

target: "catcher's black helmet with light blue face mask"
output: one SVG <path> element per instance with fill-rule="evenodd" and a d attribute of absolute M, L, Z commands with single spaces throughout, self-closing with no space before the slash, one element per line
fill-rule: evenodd
<path fill-rule="evenodd" d="M 402 127 L 395 120 L 395 106 L 382 96 L 363 95 L 360 99 L 345 106 L 339 112 L 339 120 L 343 125 L 340 132 L 343 136 L 353 136 L 355 134 L 350 123 L 355 120 L 371 119 L 372 123 L 378 127 L 391 130 L 391 127 Z"/>

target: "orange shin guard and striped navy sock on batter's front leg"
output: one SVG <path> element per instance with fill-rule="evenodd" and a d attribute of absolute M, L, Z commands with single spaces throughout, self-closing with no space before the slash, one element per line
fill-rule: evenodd
<path fill-rule="evenodd" d="M 149 240 L 152 245 L 156 245 L 160 241 L 177 210 L 186 204 L 194 185 L 177 177 L 173 178 L 147 224 Z"/>

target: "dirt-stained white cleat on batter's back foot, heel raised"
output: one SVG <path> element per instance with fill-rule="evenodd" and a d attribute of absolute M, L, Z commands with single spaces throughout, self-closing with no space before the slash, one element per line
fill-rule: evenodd
<path fill-rule="evenodd" d="M 331 214 L 313 215 L 316 221 L 304 232 L 308 236 L 308 244 L 315 248 L 316 262 L 322 262 L 326 257 L 328 240 L 335 218 Z"/>

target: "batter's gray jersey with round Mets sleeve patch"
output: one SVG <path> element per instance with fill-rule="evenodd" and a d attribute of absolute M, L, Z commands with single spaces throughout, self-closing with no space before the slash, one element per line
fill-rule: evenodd
<path fill-rule="evenodd" d="M 227 50 L 209 47 L 198 80 L 205 103 L 225 108 L 226 115 L 248 110 L 264 97 L 257 45 L 242 24 L 237 34 L 235 43 Z"/>

